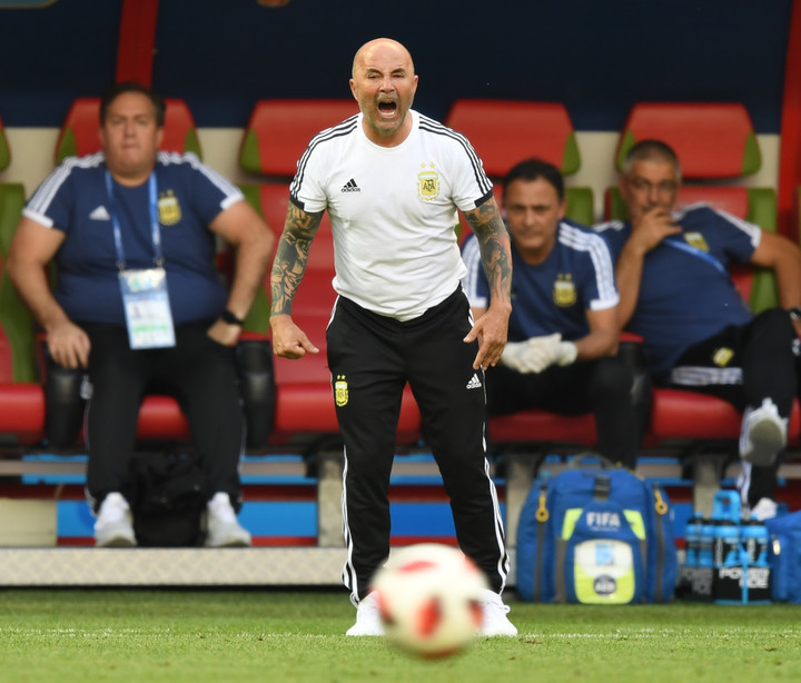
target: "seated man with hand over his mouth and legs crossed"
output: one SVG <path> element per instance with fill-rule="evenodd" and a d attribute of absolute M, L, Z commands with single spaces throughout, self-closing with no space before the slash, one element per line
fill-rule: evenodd
<path fill-rule="evenodd" d="M 775 515 L 778 454 L 797 390 L 801 254 L 788 239 L 704 204 L 674 210 L 679 159 L 643 140 L 620 189 L 629 221 L 597 226 L 616 260 L 620 324 L 641 335 L 654 379 L 719 396 L 743 412 L 738 483 L 755 518 Z M 782 308 L 753 316 L 729 276 L 732 261 L 772 268 Z"/>

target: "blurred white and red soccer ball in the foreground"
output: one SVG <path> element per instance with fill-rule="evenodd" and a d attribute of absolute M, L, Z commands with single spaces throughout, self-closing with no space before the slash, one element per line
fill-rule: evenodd
<path fill-rule="evenodd" d="M 454 654 L 467 647 L 481 627 L 486 578 L 456 548 L 424 543 L 396 551 L 372 587 L 387 641 L 413 654 Z"/>

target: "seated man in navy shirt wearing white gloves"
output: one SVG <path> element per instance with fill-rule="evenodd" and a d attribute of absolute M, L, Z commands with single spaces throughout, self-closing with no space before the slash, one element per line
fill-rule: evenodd
<path fill-rule="evenodd" d="M 619 296 L 606 245 L 565 219 L 562 175 L 545 161 L 528 159 L 508 171 L 503 207 L 512 237 L 512 315 L 501 364 L 486 374 L 488 414 L 592 412 L 601 455 L 634 468 L 640 429 L 632 373 L 616 355 Z M 490 305 L 490 288 L 475 236 L 462 258 L 477 318 Z"/>

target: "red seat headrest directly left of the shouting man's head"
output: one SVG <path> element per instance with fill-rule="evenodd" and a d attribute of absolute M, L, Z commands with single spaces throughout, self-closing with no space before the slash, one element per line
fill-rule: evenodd
<path fill-rule="evenodd" d="M 291 178 L 309 140 L 357 112 L 353 99 L 259 100 L 245 130 L 239 166 L 251 174 Z"/>

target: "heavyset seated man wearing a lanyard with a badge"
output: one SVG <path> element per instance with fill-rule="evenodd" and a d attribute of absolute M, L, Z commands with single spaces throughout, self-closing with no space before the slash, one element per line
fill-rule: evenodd
<path fill-rule="evenodd" d="M 87 372 L 96 544 L 138 543 L 137 417 L 158 384 L 181 404 L 209 482 L 206 545 L 250 545 L 236 516 L 245 426 L 235 346 L 273 234 L 195 155 L 159 151 L 164 120 L 164 99 L 149 88 L 111 86 L 100 101 L 102 151 L 67 158 L 33 192 L 7 267 L 53 360 Z M 237 250 L 230 289 L 215 265 L 218 236 Z"/>

